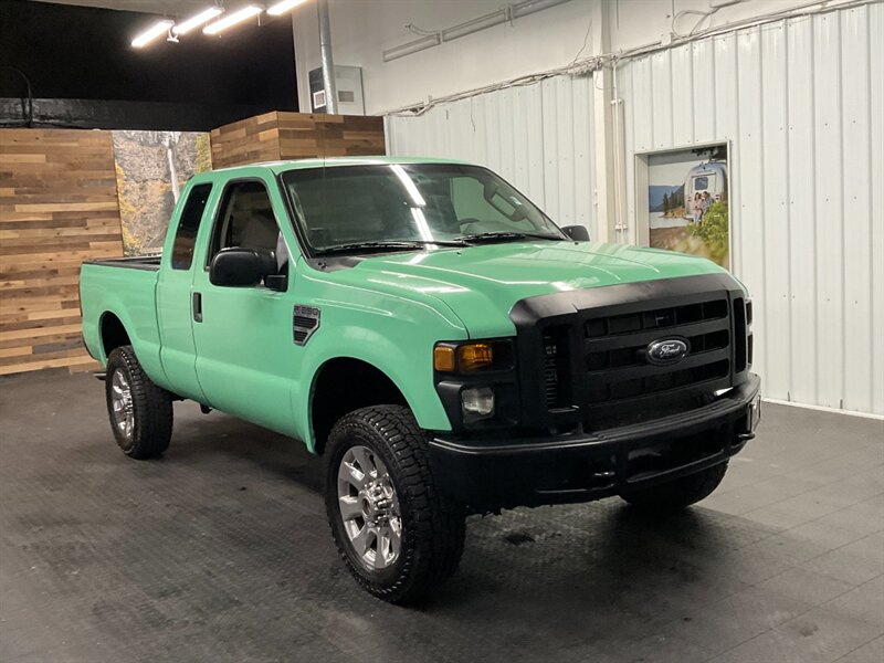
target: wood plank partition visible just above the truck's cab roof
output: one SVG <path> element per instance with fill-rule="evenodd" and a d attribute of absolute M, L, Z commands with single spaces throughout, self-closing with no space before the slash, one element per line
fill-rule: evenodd
<path fill-rule="evenodd" d="M 383 155 L 383 118 L 274 110 L 212 130 L 212 167 Z"/>

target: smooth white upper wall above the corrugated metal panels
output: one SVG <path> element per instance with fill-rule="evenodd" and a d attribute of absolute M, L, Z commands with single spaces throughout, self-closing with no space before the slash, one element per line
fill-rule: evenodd
<path fill-rule="evenodd" d="M 335 64 L 362 69 L 366 113 L 378 115 L 600 53 L 603 24 L 608 27 L 611 48 L 624 50 L 659 41 L 669 33 L 675 12 L 709 11 L 709 0 L 569 0 L 517 18 L 512 24 L 498 24 L 406 57 L 383 61 L 383 51 L 417 40 L 421 32 L 451 28 L 523 1 L 334 0 L 329 2 L 329 14 Z M 548 1 L 537 0 L 538 4 Z M 808 1 L 740 0 L 715 11 L 703 27 Z M 830 0 L 830 4 L 843 1 Z M 311 107 L 307 72 L 319 66 L 316 3 L 297 7 L 292 19 L 298 102 L 306 110 Z M 676 28 L 687 31 L 696 21 L 696 15 L 686 14 Z"/>

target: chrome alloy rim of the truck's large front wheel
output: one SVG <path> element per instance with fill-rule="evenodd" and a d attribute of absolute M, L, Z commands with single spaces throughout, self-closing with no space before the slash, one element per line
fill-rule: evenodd
<path fill-rule="evenodd" d="M 402 550 L 399 498 L 381 460 L 351 446 L 338 467 L 338 509 L 356 557 L 368 570 L 394 564 Z"/>

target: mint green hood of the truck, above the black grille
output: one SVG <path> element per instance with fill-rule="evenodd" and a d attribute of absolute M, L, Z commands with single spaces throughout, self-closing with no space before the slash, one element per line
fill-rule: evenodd
<path fill-rule="evenodd" d="M 441 299 L 472 338 L 514 334 L 509 311 L 525 297 L 723 271 L 672 251 L 549 241 L 396 253 L 355 267 L 360 278 Z"/>

